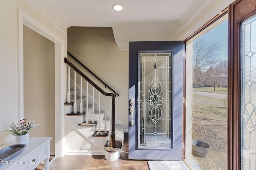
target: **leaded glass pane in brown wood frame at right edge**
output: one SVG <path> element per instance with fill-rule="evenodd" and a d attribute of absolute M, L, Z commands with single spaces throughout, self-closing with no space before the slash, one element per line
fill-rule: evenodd
<path fill-rule="evenodd" d="M 241 169 L 256 167 L 256 16 L 242 22 Z"/>

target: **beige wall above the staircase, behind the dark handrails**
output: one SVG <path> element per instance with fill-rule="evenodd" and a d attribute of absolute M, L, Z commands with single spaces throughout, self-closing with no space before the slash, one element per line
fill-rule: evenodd
<path fill-rule="evenodd" d="M 128 129 L 128 51 L 118 49 L 112 28 L 68 28 L 68 51 L 120 95 L 116 117 Z"/>

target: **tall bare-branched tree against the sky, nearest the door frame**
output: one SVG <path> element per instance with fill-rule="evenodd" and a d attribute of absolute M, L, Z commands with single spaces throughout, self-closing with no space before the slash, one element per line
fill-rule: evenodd
<path fill-rule="evenodd" d="M 198 77 L 200 71 L 206 71 L 209 66 L 218 64 L 218 59 L 221 44 L 217 42 L 204 41 L 199 38 L 193 42 L 193 81 L 194 78 Z"/>

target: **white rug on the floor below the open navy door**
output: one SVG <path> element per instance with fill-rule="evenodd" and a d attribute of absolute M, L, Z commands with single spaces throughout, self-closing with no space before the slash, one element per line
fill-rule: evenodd
<path fill-rule="evenodd" d="M 150 170 L 189 170 L 183 161 L 175 160 L 150 160 L 148 167 Z"/>

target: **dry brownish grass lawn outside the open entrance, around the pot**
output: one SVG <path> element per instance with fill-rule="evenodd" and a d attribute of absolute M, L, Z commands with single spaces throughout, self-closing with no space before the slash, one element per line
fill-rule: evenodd
<path fill-rule="evenodd" d="M 212 87 L 194 89 L 197 91 L 205 90 L 204 92 L 213 91 Z M 218 93 L 221 90 L 224 91 L 224 88 L 217 89 L 216 92 Z M 227 108 L 219 103 L 218 98 L 193 94 L 192 100 L 192 121 L 194 125 L 192 133 L 194 133 L 196 139 L 205 141 L 212 147 L 206 158 L 200 158 L 193 154 L 193 159 L 203 170 L 226 170 Z"/>

